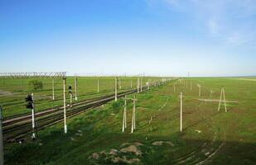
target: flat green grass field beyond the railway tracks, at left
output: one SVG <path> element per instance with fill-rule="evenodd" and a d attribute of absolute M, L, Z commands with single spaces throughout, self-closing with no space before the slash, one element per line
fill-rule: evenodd
<path fill-rule="evenodd" d="M 118 91 L 125 91 L 132 87 L 137 87 L 137 78 L 121 77 L 121 88 Z M 146 82 L 159 80 L 160 78 L 143 78 L 143 85 Z M 63 104 L 63 80 L 55 80 L 55 101 L 52 100 L 52 79 L 38 79 L 43 82 L 43 89 L 34 91 L 29 87 L 29 82 L 33 80 L 27 79 L 1 79 L 0 78 L 0 105 L 3 106 L 3 116 L 12 117 L 12 115 L 21 115 L 24 113 L 31 113 L 30 110 L 25 108 L 25 97 L 31 92 L 34 93 L 36 111 L 43 111 L 52 106 L 61 106 Z M 73 89 L 73 97 L 75 97 L 75 78 L 67 77 L 66 81 L 68 86 Z M 77 86 L 78 101 L 85 99 L 99 97 L 114 93 L 114 78 L 113 77 L 99 77 L 99 92 L 98 92 L 98 78 L 93 77 L 79 77 Z M 67 101 L 70 100 L 70 96 L 67 93 Z M 74 99 L 75 101 L 75 99 Z"/>

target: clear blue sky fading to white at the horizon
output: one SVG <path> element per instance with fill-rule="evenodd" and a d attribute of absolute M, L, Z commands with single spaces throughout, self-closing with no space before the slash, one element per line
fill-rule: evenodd
<path fill-rule="evenodd" d="M 256 75 L 255 0 L 0 0 L 0 72 Z"/>

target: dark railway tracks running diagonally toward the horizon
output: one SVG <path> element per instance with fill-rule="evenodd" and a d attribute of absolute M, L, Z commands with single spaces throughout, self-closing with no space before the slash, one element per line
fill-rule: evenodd
<path fill-rule="evenodd" d="M 147 89 L 147 87 L 143 87 Z M 119 92 L 118 97 L 124 97 L 124 95 L 137 92 L 137 89 L 132 89 L 127 92 Z M 89 109 L 97 106 L 102 106 L 109 101 L 114 100 L 114 94 L 96 97 L 93 99 L 80 101 L 72 105 L 72 108 L 67 107 L 66 117 L 70 118 L 75 115 L 79 115 Z M 63 106 L 58 106 L 46 111 L 36 113 L 36 129 L 43 130 L 48 126 L 55 125 L 62 122 L 63 119 Z M 5 142 L 17 142 L 22 140 L 27 134 L 32 133 L 31 128 L 31 115 L 22 115 L 12 119 L 3 120 L 2 122 L 3 141 Z"/>

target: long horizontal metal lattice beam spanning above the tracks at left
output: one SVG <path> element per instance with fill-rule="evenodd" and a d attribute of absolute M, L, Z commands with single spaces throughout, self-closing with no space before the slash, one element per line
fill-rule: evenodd
<path fill-rule="evenodd" d="M 66 78 L 66 72 L 0 73 L 0 78 Z"/>

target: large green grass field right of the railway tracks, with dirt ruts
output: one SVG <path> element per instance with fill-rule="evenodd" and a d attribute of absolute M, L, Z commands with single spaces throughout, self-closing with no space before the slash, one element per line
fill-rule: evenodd
<path fill-rule="evenodd" d="M 177 81 L 175 93 L 173 83 L 137 94 L 133 134 L 132 102 L 128 102 L 128 127 L 122 132 L 120 99 L 69 119 L 68 134 L 60 123 L 41 130 L 36 141 L 5 144 L 5 163 L 256 164 L 256 82 L 193 78 L 192 90 L 191 80 L 186 79 Z M 224 86 L 226 100 L 238 102 L 228 102 L 227 113 L 224 106 L 218 112 L 218 102 L 198 100 L 197 84 L 201 85 L 202 99 L 219 99 L 220 87 Z M 111 87 L 109 83 L 106 90 Z M 88 92 L 95 88 L 85 85 Z M 180 92 L 184 95 L 182 132 Z"/>

